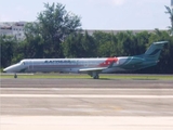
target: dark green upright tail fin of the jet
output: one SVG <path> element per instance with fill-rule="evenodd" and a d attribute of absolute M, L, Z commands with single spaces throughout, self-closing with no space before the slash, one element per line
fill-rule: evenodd
<path fill-rule="evenodd" d="M 154 42 L 148 50 L 144 53 L 144 57 L 147 60 L 157 61 L 160 56 L 160 52 L 163 49 L 163 46 L 168 43 L 168 41 L 159 41 Z"/>

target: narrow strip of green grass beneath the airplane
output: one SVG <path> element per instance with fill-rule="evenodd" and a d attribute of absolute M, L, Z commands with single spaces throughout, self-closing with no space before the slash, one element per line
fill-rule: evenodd
<path fill-rule="evenodd" d="M 14 78 L 14 75 L 0 75 L 0 78 Z M 17 75 L 17 78 L 29 78 L 29 79 L 35 79 L 35 78 L 42 78 L 42 79 L 92 79 L 86 74 L 34 74 L 34 75 Z M 173 80 L 173 75 L 119 75 L 119 74 L 101 74 L 99 79 L 138 79 L 138 80 Z"/>

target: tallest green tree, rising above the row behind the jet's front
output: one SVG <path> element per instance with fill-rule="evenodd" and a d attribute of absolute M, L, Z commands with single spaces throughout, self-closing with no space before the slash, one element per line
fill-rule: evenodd
<path fill-rule="evenodd" d="M 37 22 L 26 26 L 26 35 L 41 40 L 43 57 L 62 57 L 61 43 L 70 34 L 80 30 L 80 17 L 67 12 L 61 3 L 44 3 L 44 8 L 45 10 L 39 13 Z"/>

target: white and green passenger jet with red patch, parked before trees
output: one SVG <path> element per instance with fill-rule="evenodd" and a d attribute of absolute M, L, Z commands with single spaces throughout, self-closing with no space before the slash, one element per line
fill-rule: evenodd
<path fill-rule="evenodd" d="M 86 73 L 98 79 L 102 73 L 137 70 L 158 63 L 163 46 L 168 41 L 154 42 L 144 54 L 97 58 L 26 58 L 3 69 L 4 73 Z"/>

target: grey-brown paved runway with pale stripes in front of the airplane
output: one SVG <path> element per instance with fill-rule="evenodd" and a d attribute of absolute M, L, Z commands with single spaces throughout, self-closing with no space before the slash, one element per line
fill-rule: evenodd
<path fill-rule="evenodd" d="M 172 130 L 173 81 L 1 79 L 1 129 Z"/>

